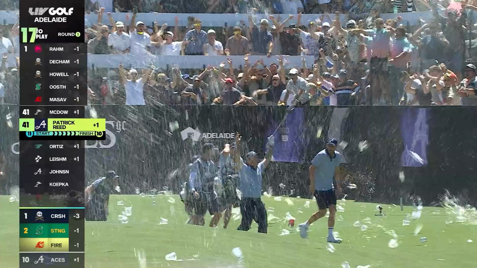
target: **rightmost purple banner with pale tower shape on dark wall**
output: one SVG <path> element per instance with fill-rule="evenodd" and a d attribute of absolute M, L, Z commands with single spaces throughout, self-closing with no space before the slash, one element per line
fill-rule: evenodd
<path fill-rule="evenodd" d="M 429 143 L 429 125 L 427 108 L 406 109 L 401 117 L 401 135 L 404 152 L 401 155 L 402 166 L 427 165 L 427 144 Z"/>

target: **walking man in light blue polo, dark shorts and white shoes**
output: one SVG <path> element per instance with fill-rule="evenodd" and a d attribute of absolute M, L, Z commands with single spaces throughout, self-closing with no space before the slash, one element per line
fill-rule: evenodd
<path fill-rule="evenodd" d="M 336 194 L 333 186 L 333 179 L 336 181 L 338 195 L 342 191 L 342 173 L 340 171 L 340 164 L 342 163 L 342 156 L 336 152 L 338 141 L 331 139 L 326 148 L 319 152 L 310 165 L 310 191 L 316 198 L 318 203 L 318 212 L 311 215 L 310 219 L 298 225 L 300 227 L 301 238 L 307 238 L 308 227 L 319 218 L 326 215 L 326 209 L 330 211 L 328 218 L 328 237 L 327 241 L 330 243 L 341 243 L 340 238 L 333 236 L 333 227 L 336 216 Z"/>

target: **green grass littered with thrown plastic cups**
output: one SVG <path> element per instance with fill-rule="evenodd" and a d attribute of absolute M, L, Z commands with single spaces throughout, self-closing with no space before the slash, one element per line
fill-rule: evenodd
<path fill-rule="evenodd" d="M 18 202 L 9 203 L 10 196 L 0 196 L 0 268 L 18 267 Z M 443 208 L 424 207 L 422 216 L 403 226 L 406 214 L 412 207 L 384 205 L 385 217 L 374 216 L 376 204 L 357 203 L 347 200 L 344 212 L 338 212 L 343 221 L 337 221 L 335 231 L 343 239 L 342 244 L 334 244 L 335 252 L 327 250 L 327 219 L 315 222 L 309 231 L 309 238 L 302 239 L 296 233 L 298 223 L 308 219 L 315 211 L 316 203 L 310 199 L 291 198 L 289 205 L 281 197 L 263 197 L 267 208 L 273 207 L 270 216 L 281 220 L 269 223 L 268 234 L 258 234 L 254 223 L 248 232 L 237 231 L 238 220 L 231 220 L 228 229 L 186 225 L 187 216 L 178 196 L 132 196 L 114 195 L 110 201 L 110 218 L 107 222 L 86 222 L 86 267 L 87 268 L 138 268 L 135 250 L 144 251 L 147 268 L 226 268 L 236 267 L 237 260 L 232 255 L 234 247 L 240 247 L 247 268 L 341 268 L 348 261 L 352 268 L 371 265 L 380 268 L 464 268 L 476 267 L 477 226 L 463 223 L 446 224 L 450 216 Z M 132 216 L 127 224 L 118 221 L 124 206 L 116 205 L 123 200 L 125 206 L 132 204 Z M 153 205 L 153 201 L 156 202 Z M 304 208 L 310 201 L 310 208 Z M 172 202 L 172 203 L 171 203 Z M 339 201 L 338 203 L 342 203 Z M 299 208 L 302 213 L 299 213 Z M 287 212 L 296 217 L 295 228 L 289 235 L 279 236 L 283 228 L 288 229 L 284 218 Z M 440 213 L 440 214 L 437 214 Z M 168 219 L 167 225 L 158 225 L 160 218 Z M 355 221 L 369 217 L 369 228 L 353 227 Z M 207 225 L 208 220 L 207 216 Z M 453 218 L 455 222 L 455 217 Z M 415 227 L 422 230 L 413 235 Z M 388 247 L 394 230 L 399 246 Z M 388 231 L 388 233 L 386 233 Z M 420 237 L 427 237 L 421 243 Z M 474 242 L 467 242 L 468 239 Z M 176 252 L 177 259 L 195 258 L 192 261 L 166 261 L 165 256 Z M 440 260 L 439 260 L 440 259 Z"/>

